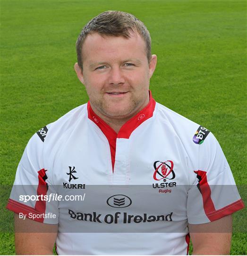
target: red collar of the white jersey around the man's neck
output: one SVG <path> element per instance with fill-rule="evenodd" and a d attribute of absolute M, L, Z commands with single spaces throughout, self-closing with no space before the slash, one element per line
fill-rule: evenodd
<path fill-rule="evenodd" d="M 153 116 L 155 103 L 156 102 L 152 97 L 151 91 L 149 91 L 149 103 L 147 106 L 143 110 L 139 111 L 134 117 L 129 119 L 125 124 L 123 124 L 118 133 L 116 133 L 105 121 L 94 113 L 89 101 L 87 103 L 88 118 L 102 130 L 103 134 L 108 140 L 114 140 L 116 138 L 129 138 L 131 133 L 140 124 Z"/>

